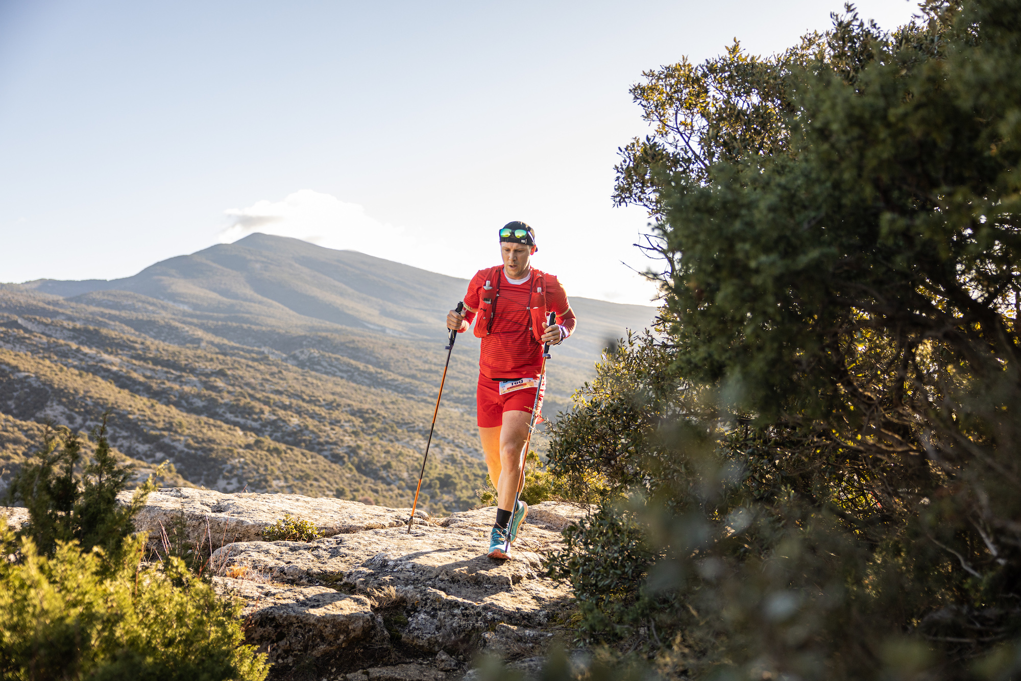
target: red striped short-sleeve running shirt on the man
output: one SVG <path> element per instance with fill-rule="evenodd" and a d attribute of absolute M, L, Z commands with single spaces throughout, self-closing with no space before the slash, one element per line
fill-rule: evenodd
<path fill-rule="evenodd" d="M 468 285 L 465 304 L 472 309 L 479 308 L 480 291 L 492 267 L 479 270 Z M 500 267 L 500 296 L 496 302 L 493 328 L 488 336 L 482 337 L 479 352 L 479 370 L 483 376 L 493 380 L 538 377 L 542 363 L 542 346 L 531 331 L 531 315 L 528 304 L 531 299 L 535 271 L 529 273 L 526 281 L 512 284 Z M 552 275 L 543 274 L 546 280 L 546 309 L 556 312 L 556 323 L 571 309 L 564 287 Z M 465 318 L 472 322 L 475 312 Z"/>

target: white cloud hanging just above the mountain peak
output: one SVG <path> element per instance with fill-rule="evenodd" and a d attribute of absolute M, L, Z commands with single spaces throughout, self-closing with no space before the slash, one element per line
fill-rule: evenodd
<path fill-rule="evenodd" d="M 289 194 L 283 201 L 257 201 L 224 213 L 230 226 L 221 233 L 221 243 L 233 243 L 261 232 L 392 260 L 403 260 L 401 256 L 414 252 L 408 237 L 414 232 L 370 217 L 357 203 L 346 203 L 310 189 Z"/>

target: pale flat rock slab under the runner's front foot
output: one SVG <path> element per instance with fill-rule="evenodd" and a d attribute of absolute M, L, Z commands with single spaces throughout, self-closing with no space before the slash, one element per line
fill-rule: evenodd
<path fill-rule="evenodd" d="M 509 561 L 486 556 L 488 534 L 471 527 L 366 530 L 312 542 L 238 542 L 217 549 L 218 572 L 247 571 L 294 585 L 330 585 L 401 605 L 401 640 L 424 652 L 471 654 L 491 626 L 540 627 L 571 601 L 570 589 L 542 576 L 534 550 L 560 536 L 524 525 Z"/>

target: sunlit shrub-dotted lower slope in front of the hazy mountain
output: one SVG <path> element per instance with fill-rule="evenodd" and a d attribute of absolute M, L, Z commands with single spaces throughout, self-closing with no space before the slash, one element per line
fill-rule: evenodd
<path fill-rule="evenodd" d="M 304 368 L 312 362 L 353 363 L 325 350 L 287 355 L 223 339 L 182 346 L 22 314 L 0 326 L 0 466 L 11 473 L 26 460 L 42 437 L 37 421 L 85 431 L 109 410 L 115 455 L 142 475 L 168 461 L 167 484 L 408 505 L 429 398 L 395 374 L 378 379 L 395 388 L 374 389 Z M 375 378 L 372 367 L 357 371 L 355 380 Z M 424 487 L 431 513 L 470 507 L 482 477 L 464 411 L 441 415 Z"/>

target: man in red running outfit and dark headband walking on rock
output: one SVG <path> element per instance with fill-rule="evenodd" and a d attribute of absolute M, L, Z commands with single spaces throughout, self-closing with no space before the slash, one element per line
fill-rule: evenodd
<path fill-rule="evenodd" d="M 489 557 L 508 558 L 505 540 L 518 537 L 528 515 L 524 501 L 510 506 L 524 482 L 521 454 L 536 391 L 537 408 L 542 411 L 542 345 L 555 345 L 570 336 L 576 320 L 556 277 L 529 264 L 538 250 L 535 231 L 524 223 L 508 223 L 499 238 L 502 266 L 476 273 L 465 294 L 465 314 L 450 310 L 447 327 L 464 333 L 474 320 L 475 335 L 482 339 L 476 391 L 479 436 L 497 494 Z M 556 324 L 546 326 L 550 311 L 556 313 Z M 537 423 L 539 418 L 537 414 Z"/>

